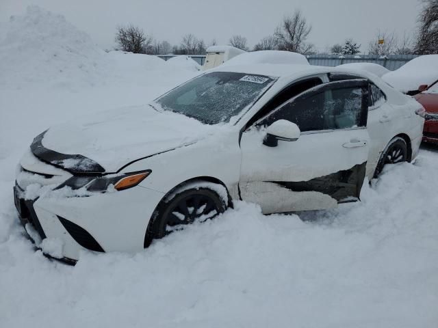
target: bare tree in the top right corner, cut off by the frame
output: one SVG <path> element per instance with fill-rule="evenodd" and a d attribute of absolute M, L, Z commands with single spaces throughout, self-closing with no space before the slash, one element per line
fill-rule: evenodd
<path fill-rule="evenodd" d="M 423 0 L 420 14 L 420 31 L 415 44 L 415 53 L 430 55 L 438 53 L 438 0 Z"/>

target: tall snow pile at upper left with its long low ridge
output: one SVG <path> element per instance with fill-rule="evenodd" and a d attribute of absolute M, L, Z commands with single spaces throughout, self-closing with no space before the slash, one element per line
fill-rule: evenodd
<path fill-rule="evenodd" d="M 105 53 L 64 16 L 36 5 L 0 25 L 0 86 L 10 89 L 36 83 L 73 89 L 120 80 L 136 84 L 146 74 L 174 75 L 175 68 L 183 69 L 167 67 L 155 56 Z"/>

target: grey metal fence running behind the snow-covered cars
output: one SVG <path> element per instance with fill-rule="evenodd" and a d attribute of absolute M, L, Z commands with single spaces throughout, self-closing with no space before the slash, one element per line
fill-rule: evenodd
<path fill-rule="evenodd" d="M 196 63 L 203 66 L 205 55 L 188 55 Z M 168 60 L 175 55 L 159 55 L 158 57 Z M 311 65 L 318 66 L 338 66 L 348 63 L 375 63 L 380 64 L 388 70 L 396 70 L 403 66 L 411 59 L 418 57 L 417 55 L 307 55 L 307 60 Z"/>

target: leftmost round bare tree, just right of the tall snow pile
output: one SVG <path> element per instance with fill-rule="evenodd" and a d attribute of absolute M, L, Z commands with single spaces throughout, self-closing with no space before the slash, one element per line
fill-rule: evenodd
<path fill-rule="evenodd" d="M 140 27 L 127 25 L 117 28 L 116 42 L 123 51 L 146 53 L 151 48 L 153 37 L 145 34 Z"/>

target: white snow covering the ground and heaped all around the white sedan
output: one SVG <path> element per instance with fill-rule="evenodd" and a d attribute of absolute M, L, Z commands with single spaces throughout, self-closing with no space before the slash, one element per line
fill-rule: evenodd
<path fill-rule="evenodd" d="M 0 24 L 0 72 L 0 327 L 438 326 L 438 148 L 385 169 L 361 203 L 298 217 L 240 202 L 138 254 L 69 267 L 18 223 L 21 154 L 51 124 L 143 104 L 197 73 L 104 53 L 35 7 Z"/>

